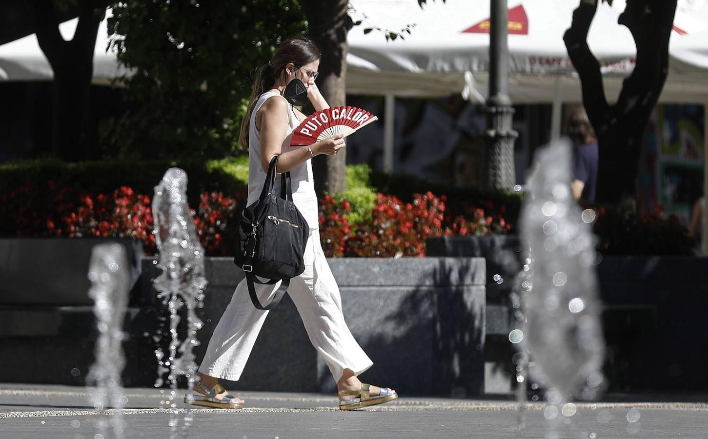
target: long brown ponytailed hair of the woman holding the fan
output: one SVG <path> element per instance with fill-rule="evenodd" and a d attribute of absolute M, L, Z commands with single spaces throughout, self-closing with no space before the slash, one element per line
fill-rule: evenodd
<path fill-rule="evenodd" d="M 297 67 L 316 61 L 321 57 L 317 45 L 306 37 L 291 37 L 280 43 L 275 50 L 273 57 L 256 72 L 256 80 L 253 81 L 253 91 L 249 99 L 249 108 L 246 110 L 244 120 L 241 121 L 241 135 L 239 144 L 242 148 L 249 147 L 249 128 L 251 126 L 251 113 L 256 106 L 258 96 L 272 89 L 277 79 L 285 78 L 285 66 L 292 62 Z"/>

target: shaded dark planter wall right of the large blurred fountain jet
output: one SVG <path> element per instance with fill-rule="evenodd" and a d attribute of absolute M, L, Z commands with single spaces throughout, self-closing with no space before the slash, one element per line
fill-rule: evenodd
<path fill-rule="evenodd" d="M 708 258 L 606 256 L 598 278 L 611 388 L 708 390 Z"/>

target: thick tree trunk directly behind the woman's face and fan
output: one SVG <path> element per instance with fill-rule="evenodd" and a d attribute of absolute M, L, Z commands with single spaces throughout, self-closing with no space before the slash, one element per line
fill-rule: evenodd
<path fill-rule="evenodd" d="M 322 52 L 317 86 L 330 106 L 346 105 L 347 33 L 352 20 L 347 0 L 299 0 L 309 25 L 310 38 Z M 346 183 L 346 154 L 318 156 L 312 161 L 318 193 L 343 193 Z"/>

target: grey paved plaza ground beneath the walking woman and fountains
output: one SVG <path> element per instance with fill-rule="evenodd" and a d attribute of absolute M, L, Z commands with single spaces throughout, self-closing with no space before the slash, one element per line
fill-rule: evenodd
<path fill-rule="evenodd" d="M 503 395 L 401 397 L 376 408 L 339 411 L 336 397 L 328 395 L 240 392 L 245 409 L 195 409 L 188 430 L 172 435 L 164 408 L 169 390 L 129 388 L 125 394 L 127 438 L 546 438 L 551 426 L 544 404 L 530 403 L 519 435 L 517 406 Z M 187 412 L 182 394 L 176 398 L 180 418 Z M 0 384 L 0 438 L 96 438 L 103 414 L 88 397 L 84 387 Z M 707 400 L 610 395 L 604 402 L 576 404 L 570 417 L 560 414 L 557 437 L 708 438 Z"/>

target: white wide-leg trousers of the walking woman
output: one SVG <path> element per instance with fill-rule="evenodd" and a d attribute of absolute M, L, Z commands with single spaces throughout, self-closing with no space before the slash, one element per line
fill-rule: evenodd
<path fill-rule="evenodd" d="M 305 246 L 304 273 L 290 280 L 287 294 L 297 307 L 312 345 L 338 381 L 345 369 L 359 375 L 373 363 L 344 321 L 339 287 L 319 239 L 319 230 L 311 230 Z M 280 282 L 255 284 L 262 304 L 270 302 L 279 285 Z M 214 330 L 199 371 L 224 380 L 239 380 L 266 316 L 268 311 L 253 307 L 246 279 L 241 280 Z"/>

